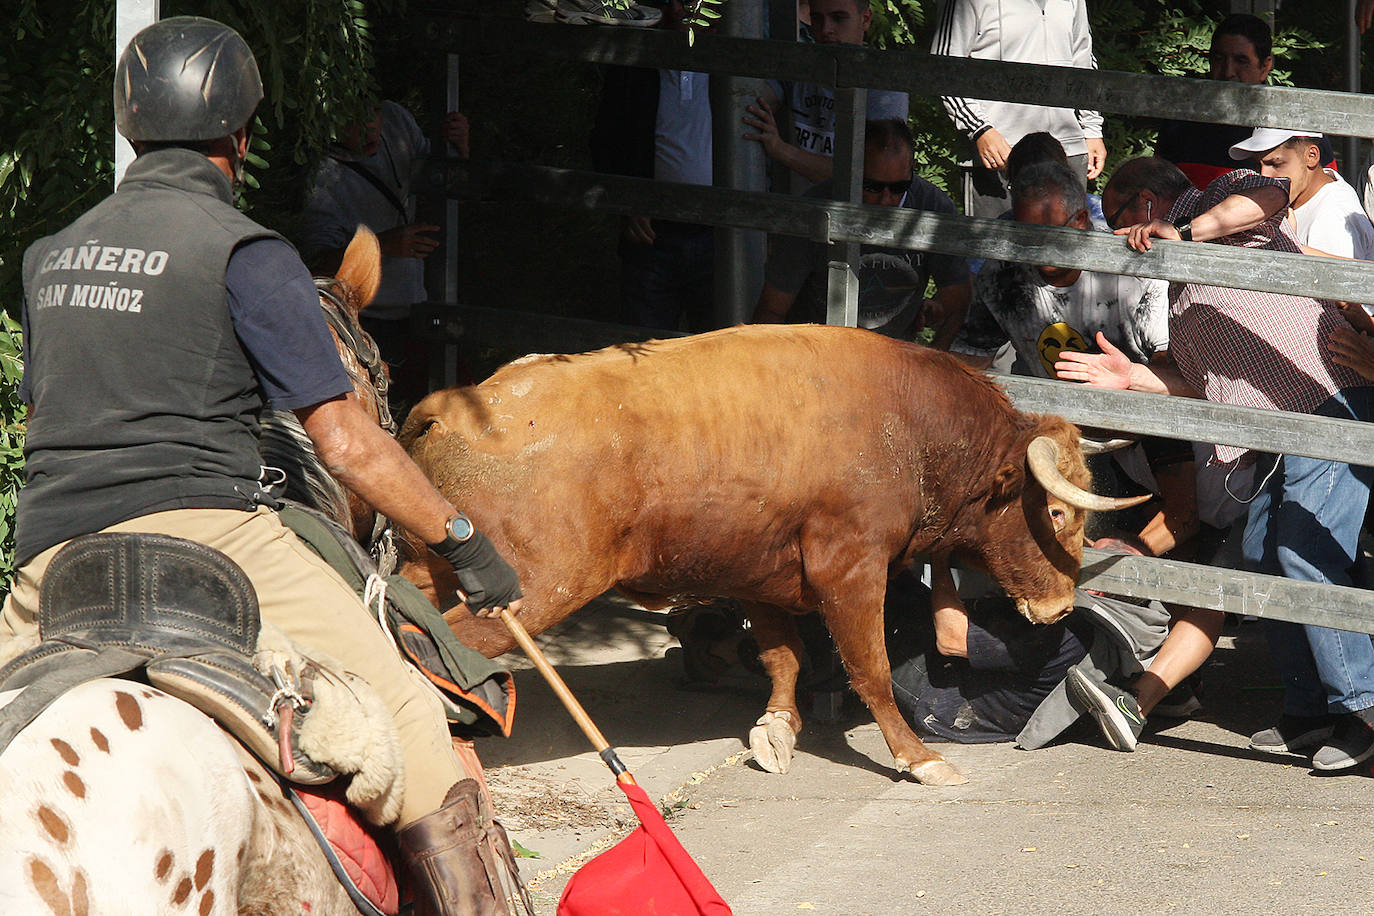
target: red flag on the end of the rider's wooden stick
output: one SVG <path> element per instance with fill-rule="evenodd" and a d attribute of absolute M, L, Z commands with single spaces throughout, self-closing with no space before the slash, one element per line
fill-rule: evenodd
<path fill-rule="evenodd" d="M 732 916 L 644 790 L 617 784 L 640 825 L 577 869 L 558 916 Z"/>

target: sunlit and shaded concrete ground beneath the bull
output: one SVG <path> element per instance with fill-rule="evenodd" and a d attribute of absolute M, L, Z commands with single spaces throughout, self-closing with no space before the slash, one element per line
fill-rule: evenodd
<path fill-rule="evenodd" d="M 1374 769 L 1318 776 L 1246 748 L 1279 702 L 1256 625 L 1223 636 L 1204 710 L 1150 722 L 1134 754 L 1084 720 L 1039 751 L 941 744 L 970 781 L 927 788 L 896 776 L 852 696 L 840 721 L 808 720 L 791 772 L 757 769 L 743 739 L 767 683 L 738 669 L 686 688 L 662 617 L 602 600 L 540 643 L 742 916 L 1374 912 Z M 506 661 L 515 736 L 478 751 L 532 854 L 537 912 L 554 913 L 636 821 L 539 674 Z"/>

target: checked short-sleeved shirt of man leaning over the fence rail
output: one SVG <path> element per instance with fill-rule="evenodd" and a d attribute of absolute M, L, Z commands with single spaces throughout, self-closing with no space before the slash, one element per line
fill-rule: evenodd
<path fill-rule="evenodd" d="M 1187 222 L 1232 194 L 1265 185 L 1287 192 L 1286 180 L 1249 169 L 1228 172 L 1205 191 L 1184 191 L 1169 210 L 1169 221 Z M 1279 211 L 1253 229 L 1215 242 L 1301 254 L 1283 217 Z M 1169 354 L 1187 383 L 1209 401 L 1311 413 L 1341 389 L 1369 385 L 1331 360 L 1326 338 L 1338 327 L 1348 327 L 1345 317 L 1326 299 L 1169 284 Z M 1242 448 L 1216 446 L 1216 460 L 1223 463 L 1242 455 Z"/>

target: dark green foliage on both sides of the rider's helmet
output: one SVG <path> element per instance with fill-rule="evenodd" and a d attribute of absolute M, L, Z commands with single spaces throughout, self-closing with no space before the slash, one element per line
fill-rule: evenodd
<path fill-rule="evenodd" d="M 114 0 L 18 0 L 0 34 L 0 575 L 12 562 L 22 479 L 22 372 L 12 320 L 25 249 L 104 198 L 114 177 Z M 10 8 L 10 5 L 7 5 Z M 238 29 L 267 99 L 258 108 L 245 209 L 286 229 L 305 177 L 337 130 L 376 98 L 370 15 L 404 0 L 164 0 L 164 16 L 201 15 Z"/>

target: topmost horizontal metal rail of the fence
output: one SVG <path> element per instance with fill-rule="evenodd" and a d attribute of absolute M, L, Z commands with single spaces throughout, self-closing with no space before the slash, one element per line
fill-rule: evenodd
<path fill-rule="evenodd" d="M 760 41 L 655 29 L 551 29 L 511 19 L 418 18 L 426 44 L 445 51 L 540 56 L 797 80 L 835 88 L 999 99 L 1158 118 L 1374 136 L 1374 96 L 1220 80 L 947 58 L 915 48 Z"/>

